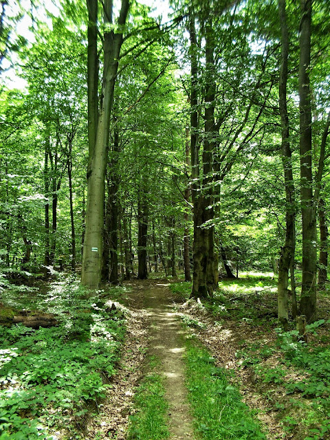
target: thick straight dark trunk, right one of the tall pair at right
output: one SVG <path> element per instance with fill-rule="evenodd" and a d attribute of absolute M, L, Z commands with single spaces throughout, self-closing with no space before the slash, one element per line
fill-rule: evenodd
<path fill-rule="evenodd" d="M 313 197 L 311 151 L 311 0 L 300 0 L 300 202 L 303 219 L 303 280 L 300 314 L 316 320 L 316 206 Z"/>

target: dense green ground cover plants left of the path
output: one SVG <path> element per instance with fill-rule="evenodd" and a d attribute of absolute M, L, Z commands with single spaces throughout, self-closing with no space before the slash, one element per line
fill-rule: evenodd
<path fill-rule="evenodd" d="M 83 428 L 104 397 L 125 334 L 124 316 L 107 311 L 101 298 L 108 294 L 88 298 L 76 278 L 61 278 L 38 298 L 39 307 L 58 315 L 57 327 L 1 328 L 1 440 L 52 439 L 47 432 L 64 423 L 72 432 Z M 22 300 L 13 293 L 8 303 L 19 307 Z"/>

